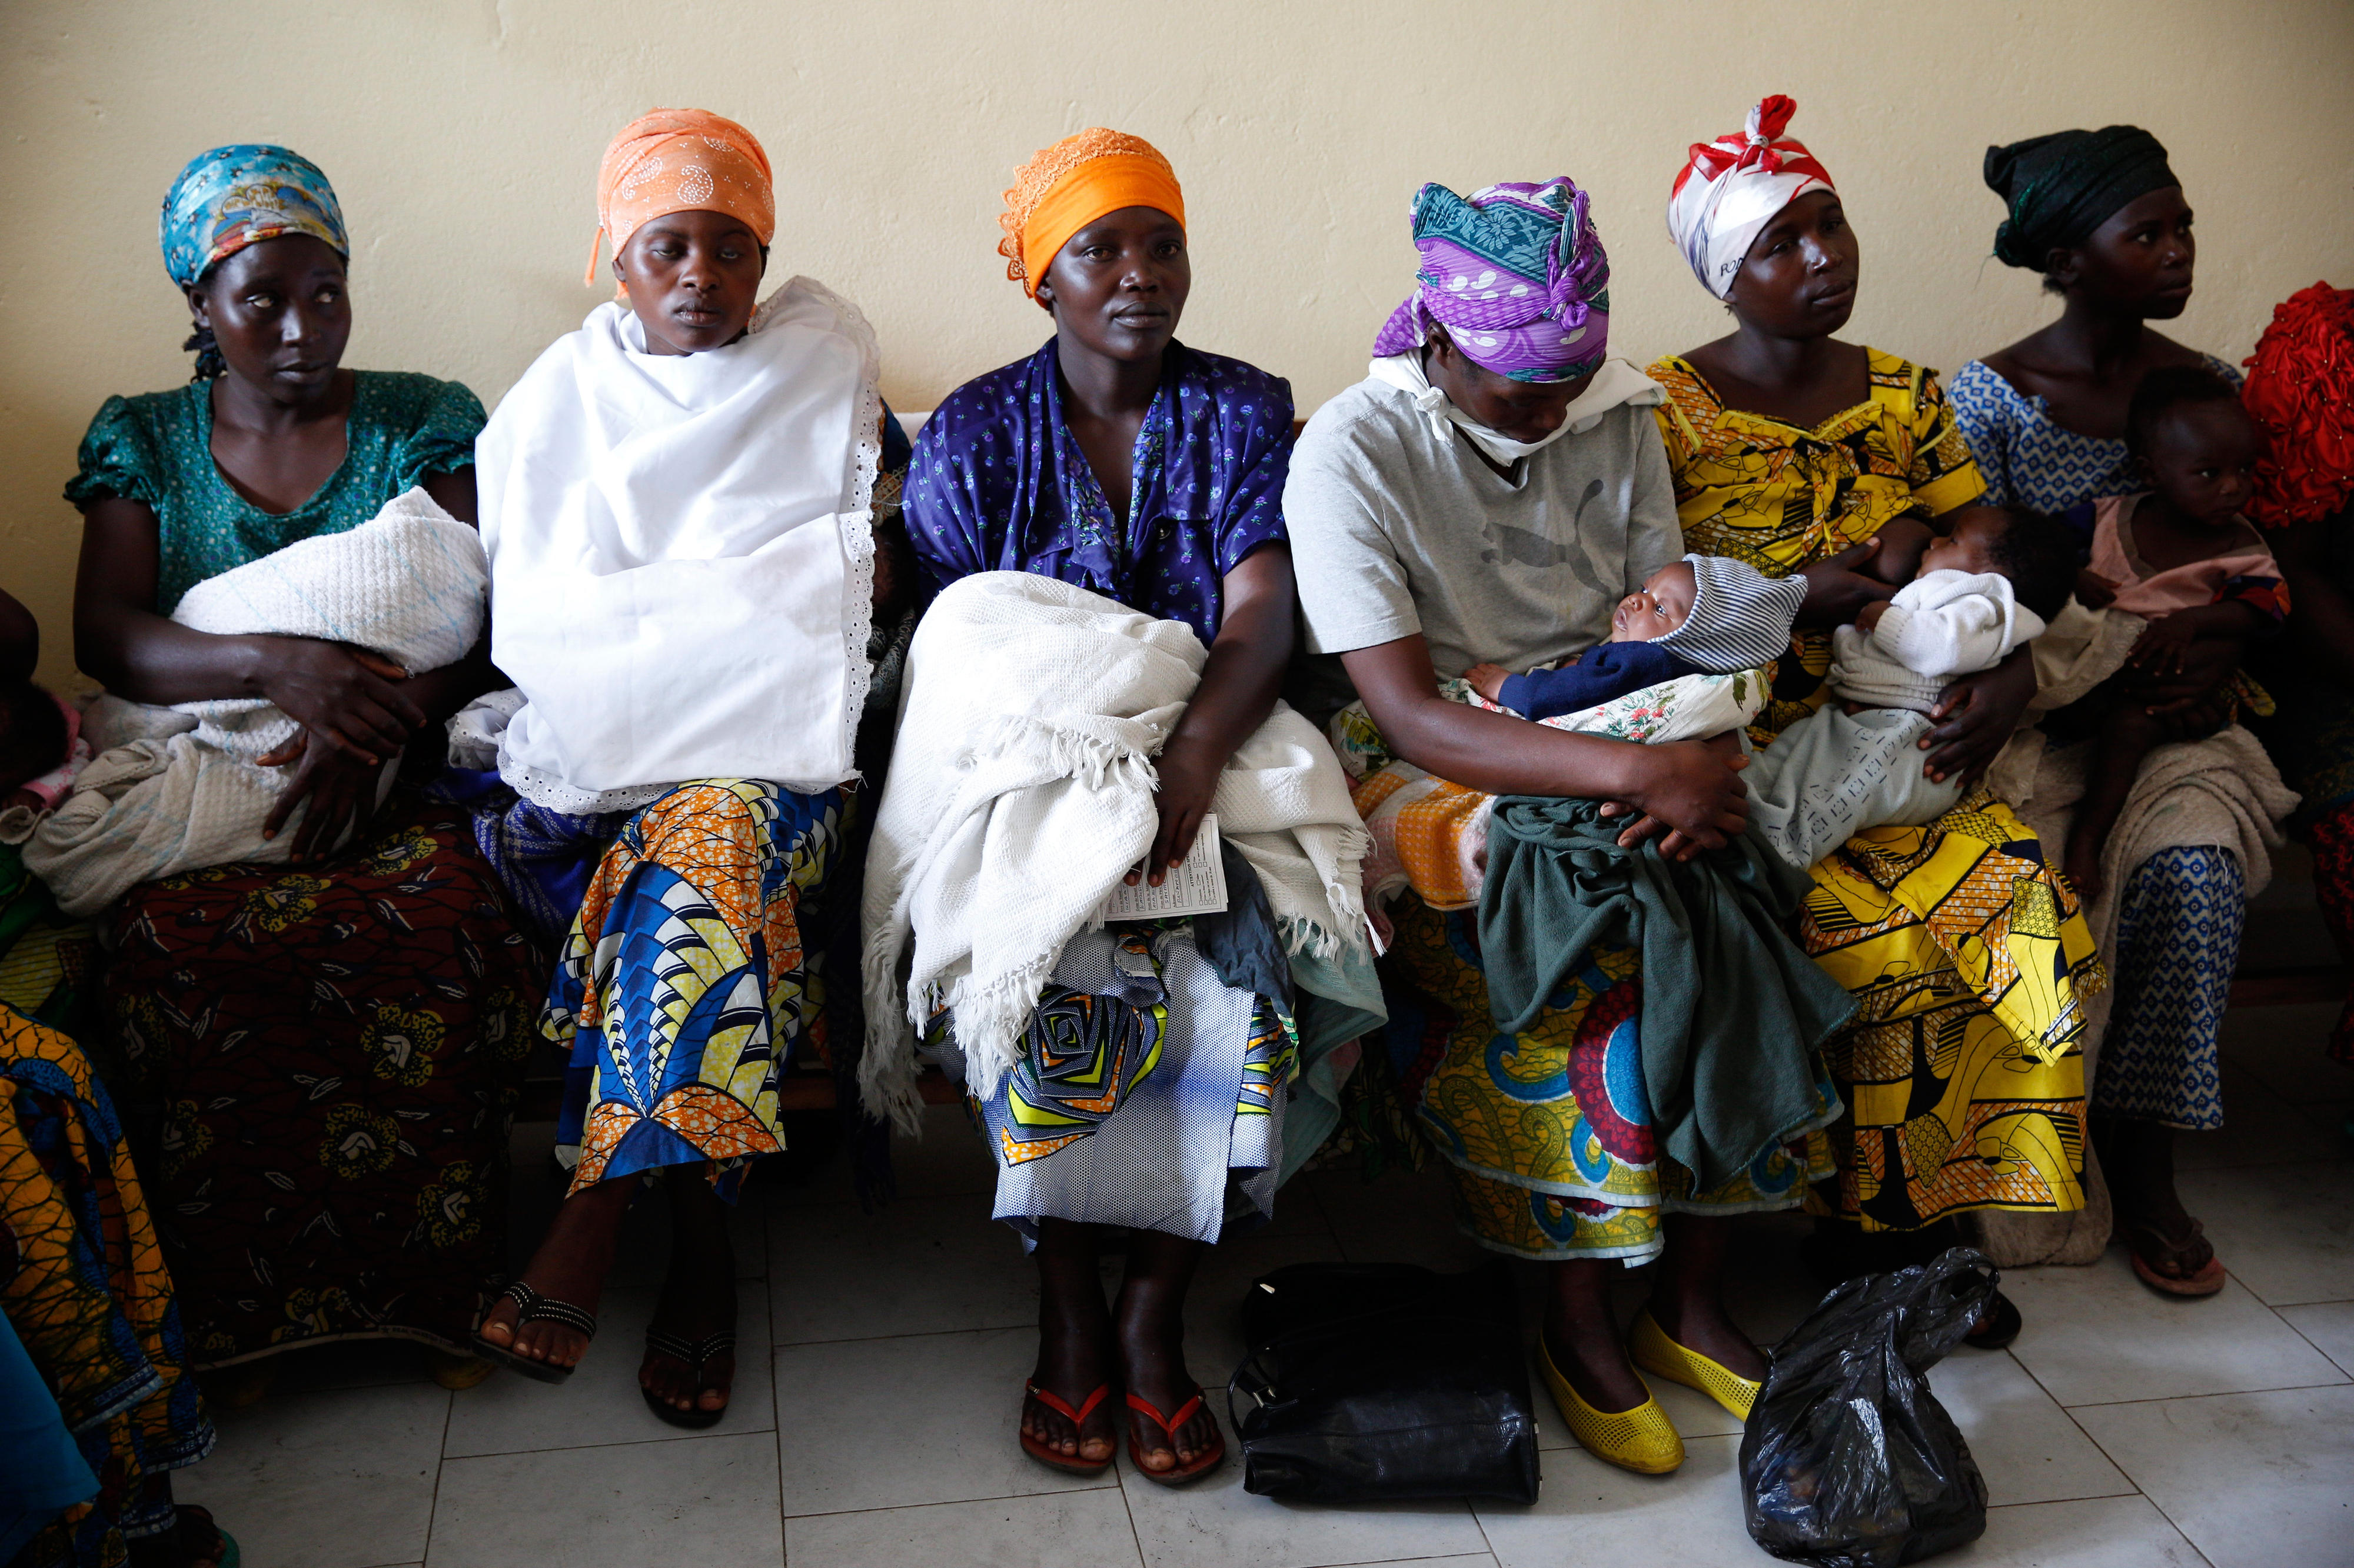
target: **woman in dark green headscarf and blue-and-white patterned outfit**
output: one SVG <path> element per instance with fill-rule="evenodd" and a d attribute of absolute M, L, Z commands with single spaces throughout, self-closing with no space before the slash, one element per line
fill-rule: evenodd
<path fill-rule="evenodd" d="M 2152 330 L 2192 297 L 2196 240 L 2182 181 L 2135 125 L 2067 129 L 1987 148 L 1987 186 L 2006 202 L 1994 257 L 2043 275 L 2060 320 L 1954 374 L 1954 412 L 1987 473 L 1989 501 L 2069 513 L 2093 549 L 2093 501 L 2149 490 L 2126 447 L 2142 377 L 2199 367 L 2239 384 L 2213 356 Z M 2175 739 L 2210 735 L 2236 706 L 2239 645 L 2208 638 L 2182 673 L 2119 676 L 2161 709 Z M 2196 833 L 2194 833 L 2196 838 Z M 2175 1130 L 2222 1125 L 2220 1031 L 2246 925 L 2248 866 L 2222 843 L 2163 848 L 2121 873 L 2109 963 L 2116 996 L 2090 1029 L 2093 1142 L 2144 1281 L 2222 1290 L 2225 1269 L 2175 1191 Z M 2050 1227 L 2046 1227 L 2050 1229 Z M 2090 1262 L 2107 1234 L 2072 1255 Z M 2020 1253 L 2024 1257 L 2024 1253 Z"/>

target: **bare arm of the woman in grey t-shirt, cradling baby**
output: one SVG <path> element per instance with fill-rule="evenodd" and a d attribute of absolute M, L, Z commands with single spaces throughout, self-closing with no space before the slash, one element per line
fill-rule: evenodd
<path fill-rule="evenodd" d="M 1636 746 L 1570 735 L 1448 702 L 1419 633 L 1358 647 L 1342 664 L 1389 749 L 1467 789 L 1624 800 L 1674 829 L 1662 852 L 1676 859 L 1721 848 L 1749 817 L 1740 782 L 1747 758 L 1711 751 L 1707 742 Z"/>

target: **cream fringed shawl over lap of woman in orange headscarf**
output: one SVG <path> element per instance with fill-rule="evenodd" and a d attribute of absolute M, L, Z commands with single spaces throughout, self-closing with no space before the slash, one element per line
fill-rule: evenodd
<path fill-rule="evenodd" d="M 932 600 L 866 852 L 869 1107 L 913 1130 L 916 1029 L 937 1005 L 993 1092 L 1055 958 L 1151 850 L 1151 758 L 1205 659 L 1191 626 L 1052 577 L 979 572 Z M 1363 949 L 1365 829 L 1309 720 L 1278 702 L 1210 808 L 1292 951 Z"/>

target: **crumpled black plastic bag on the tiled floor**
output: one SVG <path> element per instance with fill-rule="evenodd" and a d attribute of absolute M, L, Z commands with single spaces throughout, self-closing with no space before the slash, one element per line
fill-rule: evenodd
<path fill-rule="evenodd" d="M 1822 1297 L 1773 1351 L 1742 1434 L 1749 1537 L 1817 1568 L 1890 1568 L 1987 1530 L 1987 1481 L 1923 1373 L 2001 1278 L 1951 1248 Z"/>

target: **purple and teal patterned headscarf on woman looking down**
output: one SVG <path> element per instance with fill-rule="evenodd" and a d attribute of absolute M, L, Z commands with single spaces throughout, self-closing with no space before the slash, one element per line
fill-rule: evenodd
<path fill-rule="evenodd" d="M 1514 381 L 1575 381 L 1610 341 L 1610 257 L 1568 174 L 1502 184 L 1469 200 L 1415 191 L 1415 287 L 1372 339 L 1405 353 L 1438 323 L 1464 356 Z"/>

